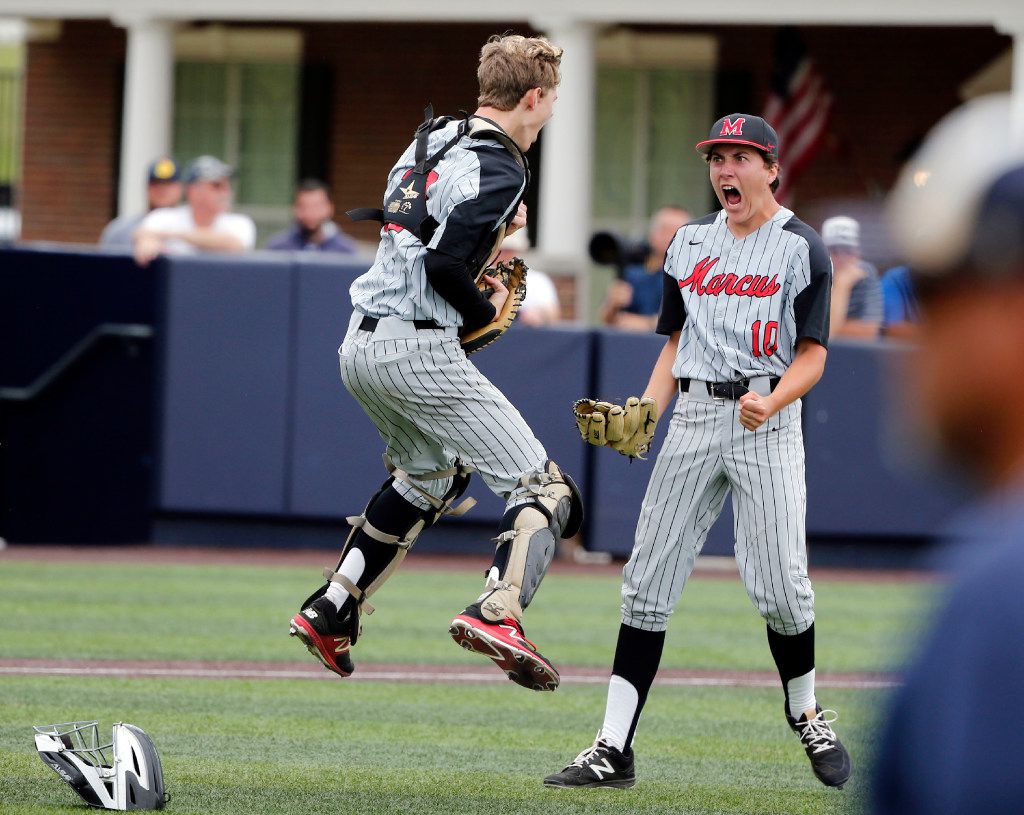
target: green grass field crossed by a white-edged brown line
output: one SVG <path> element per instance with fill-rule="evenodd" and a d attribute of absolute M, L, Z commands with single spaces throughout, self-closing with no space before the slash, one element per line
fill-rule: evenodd
<path fill-rule="evenodd" d="M 414 555 L 415 558 L 415 555 Z M 309 659 L 286 636 L 315 570 L 0 558 L 0 658 Z M 375 597 L 359 660 L 489 663 L 446 628 L 480 585 L 474 571 L 399 572 Z M 884 671 L 905 652 L 932 589 L 817 581 L 819 674 Z M 557 664 L 610 667 L 618 580 L 553 573 L 527 635 Z M 773 670 L 738 578 L 692 581 L 669 632 L 667 668 Z M 416 685 L 308 680 L 0 676 L 0 812 L 82 813 L 39 761 L 33 724 L 139 725 L 161 752 L 177 813 L 858 812 L 884 696 L 822 690 L 854 758 L 847 787 L 811 775 L 776 689 L 655 687 L 636 741 L 632 790 L 548 789 L 587 746 L 605 688 L 530 693 L 512 683 Z M 858 770 L 860 772 L 858 772 Z"/>

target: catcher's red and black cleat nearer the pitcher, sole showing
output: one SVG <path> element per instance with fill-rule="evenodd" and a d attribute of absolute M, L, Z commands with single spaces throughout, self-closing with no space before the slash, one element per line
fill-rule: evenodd
<path fill-rule="evenodd" d="M 512 617 L 490 623 L 474 603 L 452 620 L 449 633 L 467 651 L 493 659 L 505 675 L 530 690 L 555 690 L 558 671 L 522 633 L 522 626 Z"/>

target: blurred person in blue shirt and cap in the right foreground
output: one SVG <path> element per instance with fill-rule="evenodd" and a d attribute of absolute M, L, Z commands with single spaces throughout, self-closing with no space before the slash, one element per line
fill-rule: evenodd
<path fill-rule="evenodd" d="M 877 813 L 1024 801 L 1024 149 L 1005 95 L 946 117 L 890 205 L 914 273 L 914 419 L 984 494 L 951 524 L 951 584 L 885 718 Z"/>

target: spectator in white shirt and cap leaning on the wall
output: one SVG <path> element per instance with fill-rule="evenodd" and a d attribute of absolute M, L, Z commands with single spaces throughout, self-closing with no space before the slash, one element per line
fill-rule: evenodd
<path fill-rule="evenodd" d="M 185 168 L 181 207 L 154 210 L 135 230 L 134 255 L 140 266 L 158 255 L 246 252 L 256 245 L 256 224 L 229 212 L 233 169 L 213 156 L 200 156 Z"/>

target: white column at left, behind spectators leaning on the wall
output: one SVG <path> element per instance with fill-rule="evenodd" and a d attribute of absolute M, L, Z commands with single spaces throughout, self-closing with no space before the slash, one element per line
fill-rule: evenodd
<path fill-rule="evenodd" d="M 118 192 L 118 214 L 128 215 L 145 209 L 146 166 L 171 151 L 174 24 L 152 18 L 114 22 L 128 30 Z"/>

